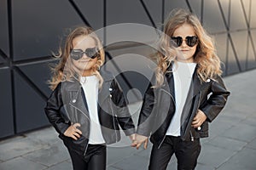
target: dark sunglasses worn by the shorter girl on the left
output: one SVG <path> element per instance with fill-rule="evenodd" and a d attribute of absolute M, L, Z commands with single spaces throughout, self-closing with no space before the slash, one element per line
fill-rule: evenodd
<path fill-rule="evenodd" d="M 70 52 L 70 57 L 74 60 L 79 60 L 86 54 L 90 59 L 95 59 L 98 55 L 98 50 L 96 48 L 86 48 L 85 51 L 82 49 L 72 49 Z"/>

